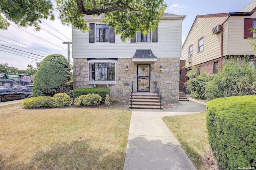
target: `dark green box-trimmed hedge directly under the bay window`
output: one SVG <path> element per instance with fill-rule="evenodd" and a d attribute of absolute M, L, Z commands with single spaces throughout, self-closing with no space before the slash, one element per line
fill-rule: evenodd
<path fill-rule="evenodd" d="M 102 97 L 102 100 L 105 100 L 106 94 L 109 95 L 109 89 L 108 88 L 77 88 L 74 89 L 73 92 L 73 98 L 76 99 L 77 97 L 81 95 L 86 94 L 98 94 L 100 97 Z"/>

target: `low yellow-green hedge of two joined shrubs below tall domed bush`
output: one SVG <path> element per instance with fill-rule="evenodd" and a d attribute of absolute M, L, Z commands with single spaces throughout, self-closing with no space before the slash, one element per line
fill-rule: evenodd
<path fill-rule="evenodd" d="M 70 96 L 64 93 L 57 93 L 53 97 L 50 96 L 36 96 L 27 98 L 22 102 L 22 105 L 27 108 L 39 107 L 63 107 L 70 103 Z"/>

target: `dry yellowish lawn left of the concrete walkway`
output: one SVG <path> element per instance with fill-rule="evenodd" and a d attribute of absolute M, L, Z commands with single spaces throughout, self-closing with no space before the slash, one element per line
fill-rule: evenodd
<path fill-rule="evenodd" d="M 122 169 L 131 111 L 0 106 L 0 169 Z"/>

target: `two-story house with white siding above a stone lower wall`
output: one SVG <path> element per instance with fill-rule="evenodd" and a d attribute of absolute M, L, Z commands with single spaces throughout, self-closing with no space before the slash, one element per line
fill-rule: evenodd
<path fill-rule="evenodd" d="M 122 42 L 100 16 L 84 16 L 91 31 L 72 29 L 74 88 L 109 88 L 112 101 L 127 102 L 131 92 L 154 93 L 158 82 L 163 102 L 178 102 L 182 21 L 164 13 L 156 30 Z"/>

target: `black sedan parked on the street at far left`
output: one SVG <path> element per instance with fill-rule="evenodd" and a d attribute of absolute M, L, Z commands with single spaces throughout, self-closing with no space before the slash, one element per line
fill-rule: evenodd
<path fill-rule="evenodd" d="M 16 92 L 8 88 L 0 89 L 0 102 L 6 100 L 25 99 L 26 97 L 27 95 L 22 92 Z"/>

